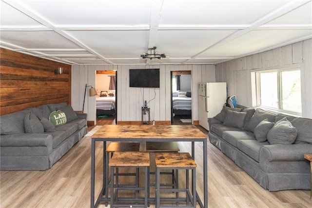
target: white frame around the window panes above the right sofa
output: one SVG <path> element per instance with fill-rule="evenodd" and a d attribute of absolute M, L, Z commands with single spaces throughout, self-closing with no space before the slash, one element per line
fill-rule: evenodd
<path fill-rule="evenodd" d="M 280 93 L 281 83 L 280 83 L 280 78 L 279 78 L 279 76 L 280 76 L 279 72 L 295 71 L 295 70 L 300 71 L 299 64 L 292 64 L 291 66 L 283 67 L 283 68 L 272 67 L 272 68 L 252 71 L 253 106 L 263 108 L 263 109 L 269 110 L 269 111 L 274 112 L 274 113 L 283 113 L 283 114 L 292 115 L 292 116 L 301 116 L 302 115 L 302 109 L 301 109 L 301 112 L 295 112 L 295 111 L 281 109 L 281 93 Z M 279 89 L 277 92 L 278 93 L 278 108 L 271 108 L 271 107 L 261 105 L 260 92 L 259 92 L 260 91 L 260 73 L 263 73 L 263 72 L 277 72 L 277 77 L 278 77 L 278 83 L 277 84 L 278 84 L 278 89 Z M 301 89 L 302 89 L 302 87 L 301 87 Z M 301 96 L 302 96 L 302 90 L 301 90 Z"/>

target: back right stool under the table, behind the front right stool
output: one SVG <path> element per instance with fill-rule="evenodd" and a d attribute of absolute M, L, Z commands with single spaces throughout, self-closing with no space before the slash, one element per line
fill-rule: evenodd
<path fill-rule="evenodd" d="M 179 152 L 180 149 L 176 142 L 146 142 L 147 152 Z M 155 172 L 150 171 L 150 174 L 155 174 Z M 175 186 L 175 170 L 171 172 L 160 172 L 162 175 L 172 175 L 172 184 L 162 184 L 162 186 Z M 155 184 L 150 183 L 150 186 L 155 186 Z"/>

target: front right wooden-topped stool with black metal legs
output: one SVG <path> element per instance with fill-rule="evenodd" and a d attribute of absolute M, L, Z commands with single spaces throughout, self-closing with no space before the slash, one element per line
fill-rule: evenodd
<path fill-rule="evenodd" d="M 168 205 L 161 206 L 161 202 L 176 202 L 176 207 L 181 206 L 179 203 L 185 202 L 183 208 L 196 208 L 196 163 L 191 155 L 187 152 L 156 152 L 155 153 L 156 164 L 156 208 L 168 207 Z M 175 188 L 160 188 L 160 170 L 161 169 L 185 169 L 186 170 L 186 188 L 178 187 L 178 179 L 176 179 Z M 192 190 L 193 196 L 189 190 L 189 170 L 192 170 Z M 177 175 L 177 174 L 176 174 Z M 162 197 L 160 198 L 160 192 L 185 192 L 186 197 L 180 198 L 178 194 L 176 197 Z M 191 205 L 190 205 L 191 202 Z M 173 206 L 170 206 L 173 207 Z"/>

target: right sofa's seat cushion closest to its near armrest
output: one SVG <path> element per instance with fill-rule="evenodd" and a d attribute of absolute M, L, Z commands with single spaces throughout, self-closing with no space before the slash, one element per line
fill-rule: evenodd
<path fill-rule="evenodd" d="M 244 152 L 249 157 L 259 162 L 260 148 L 265 145 L 270 145 L 268 142 L 257 142 L 257 140 L 238 140 L 237 148 Z"/>

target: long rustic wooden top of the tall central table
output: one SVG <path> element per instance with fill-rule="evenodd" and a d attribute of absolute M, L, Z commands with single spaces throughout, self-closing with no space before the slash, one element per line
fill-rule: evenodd
<path fill-rule="evenodd" d="M 92 138 L 207 139 L 195 125 L 103 125 Z"/>

